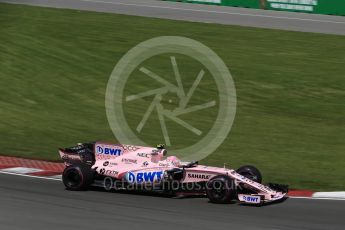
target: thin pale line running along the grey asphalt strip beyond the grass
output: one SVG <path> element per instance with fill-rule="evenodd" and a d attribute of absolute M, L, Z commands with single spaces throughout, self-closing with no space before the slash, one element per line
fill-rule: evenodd
<path fill-rule="evenodd" d="M 275 19 L 310 21 L 310 22 L 324 22 L 324 23 L 333 23 L 333 24 L 345 24 L 345 22 L 332 21 L 332 20 L 320 20 L 320 19 L 310 19 L 310 18 L 272 16 L 272 15 L 249 14 L 249 13 L 235 13 L 235 12 L 217 11 L 217 10 L 197 10 L 197 9 L 191 9 L 191 8 L 146 5 L 146 4 L 137 4 L 137 3 L 107 2 L 107 1 L 95 1 L 95 0 L 78 0 L 78 1 L 80 1 L 80 2 L 91 2 L 91 3 L 104 3 L 104 4 L 110 4 L 110 5 L 135 6 L 135 7 L 146 7 L 146 8 L 167 9 L 167 10 L 180 10 L 180 11 L 190 11 L 190 12 L 228 14 L 228 15 L 250 16 L 250 17 L 262 17 L 262 18 L 275 18 Z"/>

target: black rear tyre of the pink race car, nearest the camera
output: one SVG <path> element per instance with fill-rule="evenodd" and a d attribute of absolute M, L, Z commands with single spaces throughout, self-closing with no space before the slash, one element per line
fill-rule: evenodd
<path fill-rule="evenodd" d="M 70 165 L 62 173 L 62 182 L 72 191 L 86 190 L 93 182 L 94 172 L 87 165 Z"/>

